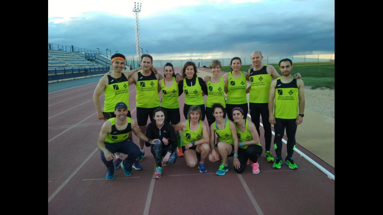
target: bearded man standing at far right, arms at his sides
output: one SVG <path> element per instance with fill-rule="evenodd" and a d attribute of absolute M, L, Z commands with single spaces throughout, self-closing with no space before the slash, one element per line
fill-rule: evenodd
<path fill-rule="evenodd" d="M 293 161 L 295 148 L 295 133 L 298 125 L 303 122 L 304 117 L 304 84 L 302 79 L 291 75 L 293 63 L 290 59 L 279 61 L 281 77 L 274 79 L 270 86 L 268 110 L 270 124 L 274 125 L 275 158 L 273 167 L 280 169 L 282 165 L 282 138 L 287 136 L 287 155 L 285 164 L 290 169 L 298 169 Z"/>

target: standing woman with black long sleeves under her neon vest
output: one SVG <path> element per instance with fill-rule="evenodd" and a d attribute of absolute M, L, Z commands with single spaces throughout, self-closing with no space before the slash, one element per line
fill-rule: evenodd
<path fill-rule="evenodd" d="M 188 61 L 182 70 L 183 81 L 178 84 L 180 95 L 185 94 L 183 115 L 187 119 L 188 110 L 191 105 L 198 105 L 201 108 L 201 120 L 205 120 L 205 101 L 203 96 L 208 94 L 208 89 L 202 78 L 197 77 L 197 67 L 194 62 Z M 203 93 L 201 93 L 201 90 Z"/>

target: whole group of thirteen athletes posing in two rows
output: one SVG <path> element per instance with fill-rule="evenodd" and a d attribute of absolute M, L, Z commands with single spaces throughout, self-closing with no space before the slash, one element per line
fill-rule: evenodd
<path fill-rule="evenodd" d="M 291 169 L 298 168 L 292 155 L 296 128 L 304 116 L 303 81 L 299 73 L 291 74 L 290 59 L 279 62 L 282 76 L 273 66 L 262 64 L 262 59 L 262 53 L 254 51 L 253 65 L 242 72 L 241 59 L 233 57 L 231 72 L 223 76 L 221 62 L 214 60 L 210 63 L 212 75 L 202 79 L 197 77 L 197 67 L 191 61 L 185 63 L 181 74 L 175 74 L 173 65 L 168 62 L 162 75 L 152 67 L 153 58 L 149 54 L 141 56 L 142 67 L 125 72 L 122 72 L 125 56 L 119 53 L 111 56 L 113 72 L 101 77 L 93 94 L 98 119 L 106 120 L 97 142 L 101 160 L 107 167 L 106 180 L 114 179 L 119 166 L 126 176 L 133 174 L 133 168 L 142 169 L 139 162 L 145 157 L 144 145 L 151 147 L 157 166 L 153 175 L 156 179 L 161 177 L 162 166 L 176 161 L 177 152 L 178 156 L 185 157 L 189 167 L 198 166 L 201 173 L 207 171 L 205 160 L 209 159 L 221 161 L 216 174 L 223 175 L 228 171 L 228 157 L 233 157 L 236 172 L 243 172 L 251 161 L 252 173 L 258 174 L 257 159 L 263 152 L 259 138 L 261 116 L 267 161 L 273 162 L 274 168 L 281 168 L 282 138 L 286 129 L 285 164 Z M 246 81 L 250 82 L 249 87 Z M 136 86 L 137 121 L 131 118 L 129 111 L 128 86 L 131 84 Z M 99 100 L 102 92 L 105 94 L 103 110 Z M 162 93 L 161 102 L 159 93 Z M 181 121 L 178 97 L 182 94 L 185 120 Z M 249 109 L 251 121 L 247 120 Z M 270 152 L 271 124 L 275 130 L 275 158 Z M 139 146 L 133 143 L 131 131 L 139 138 Z M 121 153 L 128 155 L 127 158 L 123 159 Z"/>

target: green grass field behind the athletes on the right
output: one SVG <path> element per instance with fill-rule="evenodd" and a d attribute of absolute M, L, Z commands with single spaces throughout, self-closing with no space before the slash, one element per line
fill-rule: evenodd
<path fill-rule="evenodd" d="M 278 64 L 270 64 L 280 74 Z M 250 65 L 242 65 L 241 71 L 248 71 Z M 223 72 L 230 72 L 230 66 L 223 66 Z M 295 74 L 299 72 L 302 75 L 304 85 L 311 86 L 311 89 L 335 89 L 335 62 L 306 62 L 293 63 Z"/>

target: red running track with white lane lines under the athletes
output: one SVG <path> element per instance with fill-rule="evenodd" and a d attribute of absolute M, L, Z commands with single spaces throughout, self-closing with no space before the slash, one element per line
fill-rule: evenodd
<path fill-rule="evenodd" d="M 179 72 L 180 68 L 175 70 Z M 93 105 L 96 85 L 48 94 L 48 214 L 335 214 L 335 181 L 297 153 L 293 156 L 297 170 L 285 164 L 273 169 L 262 154 L 258 159 L 259 174 L 252 174 L 250 165 L 237 174 L 230 158 L 229 171 L 223 176 L 214 174 L 218 162 L 206 160 L 208 171 L 202 174 L 198 167 L 188 167 L 185 159 L 177 156 L 174 164 L 163 167 L 161 178 L 154 179 L 154 158 L 150 148 L 145 147 L 146 157 L 141 162 L 144 169 L 124 176 L 119 168 L 115 179 L 106 181 L 106 167 L 97 148 L 104 121 L 98 120 Z M 135 92 L 131 85 L 132 118 L 136 118 Z M 103 99 L 102 94 L 101 107 Z M 183 120 L 184 96 L 179 99 Z M 263 132 L 261 127 L 261 143 Z M 135 135 L 133 141 L 138 144 Z M 297 144 L 296 148 L 335 173 L 334 168 L 303 147 Z"/>

